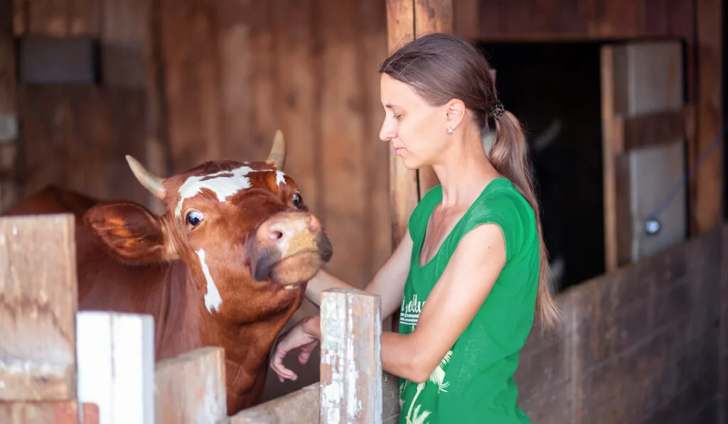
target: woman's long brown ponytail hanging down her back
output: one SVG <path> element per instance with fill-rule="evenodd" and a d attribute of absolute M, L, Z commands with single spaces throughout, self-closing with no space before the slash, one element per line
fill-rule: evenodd
<path fill-rule="evenodd" d="M 553 329 L 561 318 L 553 292 L 550 289 L 548 255 L 541 228 L 541 213 L 534 190 L 531 161 L 526 149 L 521 123 L 509 111 L 496 117 L 496 137 L 491 145 L 490 161 L 496 170 L 513 183 L 536 215 L 539 234 L 539 287 L 536 295 L 536 313 L 542 329 Z"/>

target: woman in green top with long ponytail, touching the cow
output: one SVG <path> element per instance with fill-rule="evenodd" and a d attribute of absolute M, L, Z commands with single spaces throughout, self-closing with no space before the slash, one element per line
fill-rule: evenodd
<path fill-rule="evenodd" d="M 365 288 L 381 295 L 383 319 L 399 309 L 399 332 L 383 332 L 381 361 L 400 377 L 400 423 L 529 423 L 513 374 L 534 311 L 558 320 L 518 120 L 496 97 L 490 67 L 455 36 L 422 36 L 381 66 L 382 140 L 408 169 L 431 166 L 440 185 L 412 212 L 392 257 Z M 489 155 L 481 135 L 494 121 Z M 351 287 L 321 271 L 306 296 Z M 284 335 L 271 367 L 320 340 L 319 316 Z"/>

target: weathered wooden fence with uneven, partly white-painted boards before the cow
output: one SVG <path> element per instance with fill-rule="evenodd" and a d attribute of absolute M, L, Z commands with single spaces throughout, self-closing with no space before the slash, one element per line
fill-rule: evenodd
<path fill-rule="evenodd" d="M 77 310 L 74 225 L 0 218 L 0 423 L 382 423 L 379 296 L 323 292 L 320 383 L 228 417 L 222 348 L 155 364 L 151 316 Z"/>

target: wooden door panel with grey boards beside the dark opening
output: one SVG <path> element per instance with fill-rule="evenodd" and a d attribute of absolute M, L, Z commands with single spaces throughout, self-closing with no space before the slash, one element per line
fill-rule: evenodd
<path fill-rule="evenodd" d="M 683 63 L 679 41 L 602 47 L 606 271 L 687 236 Z"/>

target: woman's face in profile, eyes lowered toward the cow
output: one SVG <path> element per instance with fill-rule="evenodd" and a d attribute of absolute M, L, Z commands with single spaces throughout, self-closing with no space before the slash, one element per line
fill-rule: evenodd
<path fill-rule="evenodd" d="M 431 106 L 407 84 L 381 75 L 381 104 L 386 115 L 379 138 L 392 143 L 408 169 L 431 165 L 448 142 L 448 108 Z"/>

